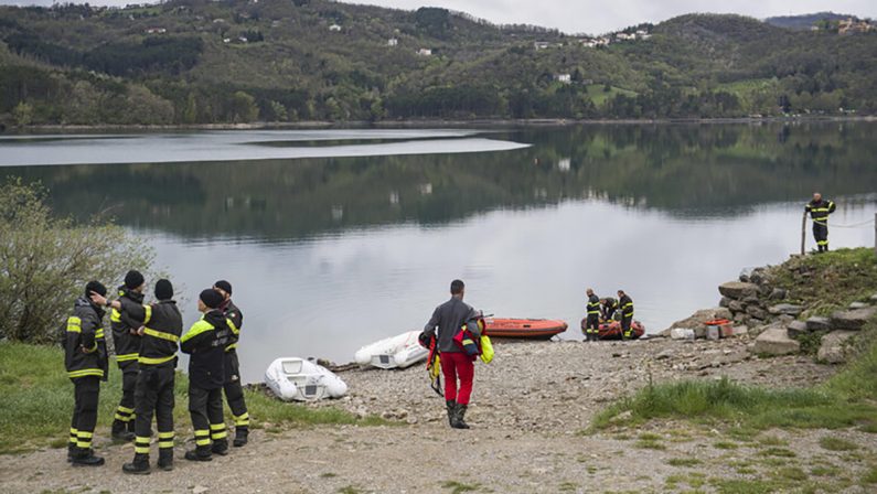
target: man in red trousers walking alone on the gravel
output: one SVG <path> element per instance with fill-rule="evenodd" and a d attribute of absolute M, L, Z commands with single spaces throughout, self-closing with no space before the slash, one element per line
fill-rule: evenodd
<path fill-rule="evenodd" d="M 451 298 L 432 311 L 432 316 L 424 327 L 429 337 L 438 329 L 438 350 L 441 372 L 445 375 L 445 405 L 448 422 L 454 429 L 469 429 L 466 423 L 466 409 L 472 395 L 474 379 L 474 358 L 467 355 L 453 341 L 467 321 L 478 315 L 474 309 L 463 302 L 466 284 L 461 280 L 451 281 Z M 459 389 L 457 380 L 459 379 Z"/>

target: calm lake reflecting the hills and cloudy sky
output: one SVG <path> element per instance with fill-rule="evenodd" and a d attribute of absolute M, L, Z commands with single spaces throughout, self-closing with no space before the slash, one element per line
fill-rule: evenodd
<path fill-rule="evenodd" d="M 421 329 L 453 278 L 485 313 L 564 319 L 578 340 L 585 289 L 623 288 L 661 331 L 715 305 L 741 269 L 798 251 L 815 190 L 838 206 L 832 248 L 874 245 L 862 223 L 877 210 L 875 135 L 796 122 L 4 136 L 0 167 L 46 184 L 58 214 L 111 215 L 148 239 L 186 324 L 197 292 L 229 280 L 256 382 L 278 356 L 349 362 Z"/>

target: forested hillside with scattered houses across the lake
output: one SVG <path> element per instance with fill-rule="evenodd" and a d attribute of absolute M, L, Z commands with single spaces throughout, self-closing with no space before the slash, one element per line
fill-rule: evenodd
<path fill-rule="evenodd" d="M 692 14 L 635 40 L 328 0 L 0 8 L 0 121 L 877 112 L 877 32 Z"/>

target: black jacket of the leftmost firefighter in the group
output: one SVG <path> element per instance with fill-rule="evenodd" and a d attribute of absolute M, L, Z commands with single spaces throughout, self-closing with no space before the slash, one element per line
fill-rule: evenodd
<path fill-rule="evenodd" d="M 107 380 L 107 342 L 104 339 L 104 311 L 82 297 L 67 318 L 64 367 L 71 379 L 97 376 Z M 86 353 L 87 352 L 87 353 Z"/>

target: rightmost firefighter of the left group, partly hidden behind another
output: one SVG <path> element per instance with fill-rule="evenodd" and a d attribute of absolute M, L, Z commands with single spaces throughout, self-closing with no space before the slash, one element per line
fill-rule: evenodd
<path fill-rule="evenodd" d="M 232 417 L 235 419 L 235 439 L 232 444 L 239 448 L 247 443 L 249 436 L 249 412 L 244 400 L 244 388 L 240 385 L 240 363 L 237 359 L 237 342 L 240 339 L 240 327 L 244 325 L 244 315 L 240 309 L 232 302 L 232 283 L 220 280 L 213 283 L 213 289 L 223 296 L 223 303 L 220 310 L 228 320 L 228 327 L 232 335 L 228 345 L 225 347 L 225 400 L 232 409 Z"/>

